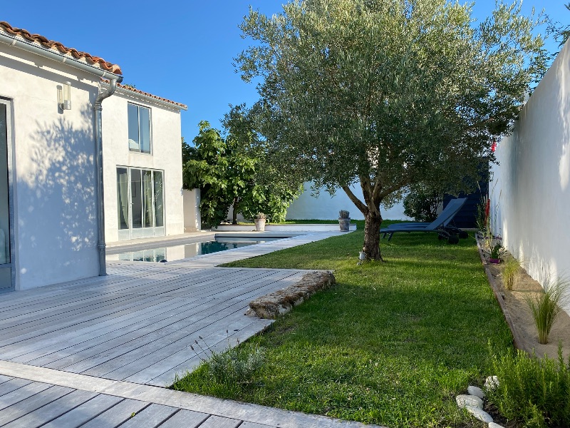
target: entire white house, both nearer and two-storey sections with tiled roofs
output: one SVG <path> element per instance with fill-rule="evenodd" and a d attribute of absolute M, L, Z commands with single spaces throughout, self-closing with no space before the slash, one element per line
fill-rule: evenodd
<path fill-rule="evenodd" d="M 187 107 L 122 78 L 116 64 L 0 22 L 0 292 L 105 275 L 106 242 L 192 223 Z"/>

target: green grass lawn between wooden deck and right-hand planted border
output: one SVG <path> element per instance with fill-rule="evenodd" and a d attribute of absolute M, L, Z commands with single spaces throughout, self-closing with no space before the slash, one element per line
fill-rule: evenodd
<path fill-rule="evenodd" d="M 175 388 L 390 428 L 471 426 L 454 397 L 489 374 L 489 341 L 511 346 L 475 240 L 400 233 L 382 241 L 386 263 L 357 266 L 357 223 L 355 233 L 230 264 L 334 270 L 338 284 L 240 345 L 266 350 L 249 382 L 226 387 L 201 367 Z"/>

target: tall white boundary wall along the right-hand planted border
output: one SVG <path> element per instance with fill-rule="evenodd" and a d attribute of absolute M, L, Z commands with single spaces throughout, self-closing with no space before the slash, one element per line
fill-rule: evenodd
<path fill-rule="evenodd" d="M 570 45 L 566 44 L 498 144 L 494 233 L 541 285 L 570 279 Z M 570 313 L 570 307 L 565 307 Z"/>

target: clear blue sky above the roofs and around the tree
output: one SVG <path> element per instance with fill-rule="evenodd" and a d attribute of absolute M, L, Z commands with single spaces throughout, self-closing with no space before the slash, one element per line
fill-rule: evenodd
<path fill-rule="evenodd" d="M 524 12 L 535 6 L 557 21 L 570 22 L 566 1 L 525 0 Z M 251 106 L 256 101 L 254 85 L 244 83 L 232 66 L 232 58 L 250 43 L 240 37 L 237 26 L 249 5 L 271 15 L 285 2 L 4 0 L 0 21 L 118 63 L 125 83 L 187 104 L 182 136 L 192 141 L 199 121 L 219 127 L 229 103 Z M 494 0 L 475 1 L 474 16 L 482 19 L 493 8 Z"/>

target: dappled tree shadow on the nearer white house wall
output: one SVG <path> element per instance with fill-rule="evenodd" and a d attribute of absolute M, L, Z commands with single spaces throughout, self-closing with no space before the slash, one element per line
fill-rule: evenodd
<path fill-rule="evenodd" d="M 28 158 L 19 160 L 18 171 L 20 245 L 42 251 L 52 248 L 61 257 L 70 251 L 96 251 L 97 182 L 90 105 L 79 114 L 66 112 L 53 123 L 36 121 L 26 144 Z M 58 254 L 44 257 L 57 259 Z"/>

